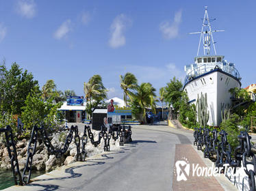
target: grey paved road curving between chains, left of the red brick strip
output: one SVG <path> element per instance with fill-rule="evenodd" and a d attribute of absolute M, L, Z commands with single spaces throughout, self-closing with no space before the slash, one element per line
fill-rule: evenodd
<path fill-rule="evenodd" d="M 175 144 L 191 144 L 189 130 L 133 126 L 133 142 L 8 190 L 172 190 Z"/>

